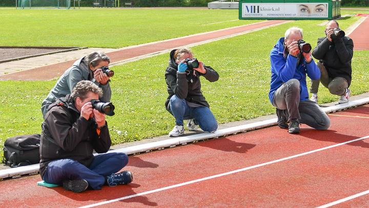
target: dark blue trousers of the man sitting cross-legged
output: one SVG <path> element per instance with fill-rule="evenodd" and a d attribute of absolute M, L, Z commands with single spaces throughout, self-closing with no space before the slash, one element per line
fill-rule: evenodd
<path fill-rule="evenodd" d="M 105 177 L 117 173 L 128 163 L 125 153 L 97 155 L 89 167 L 71 159 L 54 160 L 46 168 L 43 180 L 47 183 L 62 184 L 65 180 L 86 180 L 93 190 L 100 190 Z"/>

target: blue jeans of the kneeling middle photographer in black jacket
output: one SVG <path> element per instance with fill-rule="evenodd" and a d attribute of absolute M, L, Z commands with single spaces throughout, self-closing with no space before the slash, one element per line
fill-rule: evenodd
<path fill-rule="evenodd" d="M 218 128 L 218 123 L 208 107 L 189 107 L 185 99 L 179 99 L 176 95 L 170 99 L 170 107 L 176 125 L 183 125 L 183 120 L 194 119 L 203 131 L 214 132 Z"/>

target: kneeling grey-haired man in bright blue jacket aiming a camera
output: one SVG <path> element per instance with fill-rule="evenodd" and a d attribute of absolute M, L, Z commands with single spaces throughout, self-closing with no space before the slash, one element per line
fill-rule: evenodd
<path fill-rule="evenodd" d="M 273 47 L 270 60 L 269 99 L 276 107 L 278 126 L 288 128 L 290 134 L 300 133 L 299 123 L 318 130 L 328 129 L 330 119 L 318 104 L 309 100 L 306 74 L 316 80 L 320 72 L 311 58 L 310 44 L 302 41 L 302 29 L 288 29 Z"/>

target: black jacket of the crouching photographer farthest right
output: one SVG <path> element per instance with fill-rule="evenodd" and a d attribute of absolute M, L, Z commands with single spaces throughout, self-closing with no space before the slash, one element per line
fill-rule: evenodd
<path fill-rule="evenodd" d="M 326 68 L 330 78 L 342 77 L 351 85 L 351 60 L 354 43 L 350 37 L 337 38 L 330 42 L 326 37 L 318 39 L 312 55 Z"/>

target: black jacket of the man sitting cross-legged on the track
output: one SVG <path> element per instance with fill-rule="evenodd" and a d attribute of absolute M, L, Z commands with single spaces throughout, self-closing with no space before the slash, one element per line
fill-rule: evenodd
<path fill-rule="evenodd" d="M 50 105 L 42 125 L 40 142 L 40 175 L 53 160 L 72 159 L 90 166 L 97 153 L 106 153 L 111 145 L 108 126 L 100 129 L 94 119 L 80 117 L 73 99 L 68 94 Z"/>

